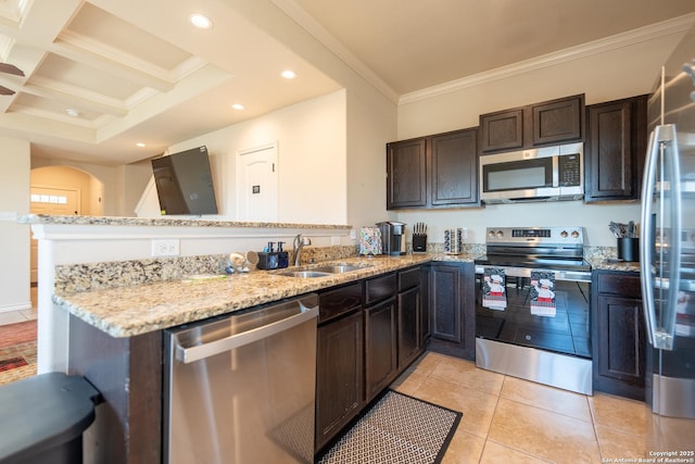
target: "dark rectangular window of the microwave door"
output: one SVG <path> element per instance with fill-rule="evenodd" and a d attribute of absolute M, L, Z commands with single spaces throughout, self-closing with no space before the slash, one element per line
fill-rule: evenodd
<path fill-rule="evenodd" d="M 553 186 L 553 159 L 489 164 L 483 166 L 484 191 L 520 190 Z"/>

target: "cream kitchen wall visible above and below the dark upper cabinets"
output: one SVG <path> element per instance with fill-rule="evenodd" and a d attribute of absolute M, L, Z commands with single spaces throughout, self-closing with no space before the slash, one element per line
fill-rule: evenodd
<path fill-rule="evenodd" d="M 519 68 L 494 79 L 468 85 L 454 91 L 421 91 L 399 106 L 397 139 L 438 134 L 479 124 L 479 115 L 585 93 L 586 104 L 649 93 L 661 63 L 675 47 L 682 33 L 650 38 L 607 50 L 577 53 L 572 60 L 558 60 L 543 66 Z M 472 83 L 472 80 L 471 80 Z M 488 205 L 483 209 L 405 211 L 395 218 L 406 224 L 429 224 L 429 240 L 443 241 L 443 229 L 469 229 L 467 242 L 484 242 L 486 226 L 581 225 L 586 243 L 615 247 L 608 223 L 640 220 L 637 203 L 583 204 L 581 201 Z"/>

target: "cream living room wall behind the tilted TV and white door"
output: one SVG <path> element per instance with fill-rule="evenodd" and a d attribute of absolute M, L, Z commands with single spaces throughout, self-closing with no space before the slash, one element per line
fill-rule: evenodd
<path fill-rule="evenodd" d="M 345 90 L 339 90 L 186 140 L 169 147 L 168 152 L 207 147 L 219 210 L 215 217 L 236 221 L 237 153 L 277 142 L 276 222 L 344 225 L 348 224 L 345 100 Z"/>

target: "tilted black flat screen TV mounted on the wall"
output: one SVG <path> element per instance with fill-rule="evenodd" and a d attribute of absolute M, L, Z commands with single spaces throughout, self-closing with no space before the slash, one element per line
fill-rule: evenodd
<path fill-rule="evenodd" d="M 152 160 L 162 215 L 217 214 L 205 146 Z"/>

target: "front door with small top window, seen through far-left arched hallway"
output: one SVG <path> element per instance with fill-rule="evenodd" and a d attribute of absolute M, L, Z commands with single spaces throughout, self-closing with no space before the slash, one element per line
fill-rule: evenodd
<path fill-rule="evenodd" d="M 79 214 L 79 189 L 31 187 L 33 214 L 73 215 Z M 29 230 L 29 235 L 31 231 Z M 38 281 L 38 242 L 31 238 L 30 281 Z"/>

